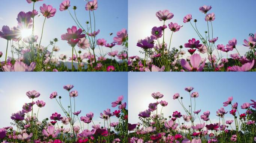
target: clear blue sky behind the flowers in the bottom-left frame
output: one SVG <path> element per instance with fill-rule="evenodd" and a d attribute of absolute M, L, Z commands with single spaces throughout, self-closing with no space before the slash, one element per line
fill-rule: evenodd
<path fill-rule="evenodd" d="M 56 91 L 62 96 L 64 107 L 69 105 L 69 95 L 63 89 L 64 85 L 73 84 L 72 90 L 78 91 L 76 99 L 76 111 L 82 110 L 80 115 L 94 112 L 94 123 L 98 124 L 101 120 L 100 112 L 110 108 L 115 111 L 118 108 L 111 107 L 111 102 L 116 101 L 118 96 L 124 95 L 124 102 L 127 102 L 127 73 L 2 73 L 0 74 L 0 108 L 1 117 L 0 128 L 9 126 L 12 113 L 22 109 L 24 103 L 31 102 L 26 96 L 27 91 L 36 90 L 41 95 L 36 100 L 46 102 L 45 107 L 39 110 L 39 120 L 49 118 L 52 113 L 58 112 L 64 115 L 55 99 L 50 99 L 52 92 Z M 36 107 L 36 105 L 35 105 Z M 128 107 L 128 105 L 127 105 Z M 38 108 L 36 108 L 37 111 Z M 35 111 L 34 111 L 35 112 Z M 116 117 L 112 117 L 112 122 L 117 122 Z M 79 122 L 76 122 L 78 125 Z M 91 126 L 91 124 L 89 124 Z M 87 126 L 86 126 L 87 127 Z"/>

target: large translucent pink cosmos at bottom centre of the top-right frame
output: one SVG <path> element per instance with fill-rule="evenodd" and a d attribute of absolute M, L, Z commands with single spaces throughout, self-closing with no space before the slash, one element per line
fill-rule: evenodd
<path fill-rule="evenodd" d="M 190 64 L 185 59 L 180 61 L 182 67 L 188 71 L 202 71 L 204 69 L 205 61 L 201 64 L 201 56 L 199 54 L 193 54 L 190 57 Z M 200 65 L 201 64 L 201 65 Z"/>

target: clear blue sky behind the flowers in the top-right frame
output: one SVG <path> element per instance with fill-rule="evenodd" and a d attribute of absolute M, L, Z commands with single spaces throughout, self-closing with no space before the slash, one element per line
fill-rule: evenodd
<path fill-rule="evenodd" d="M 138 52 L 141 48 L 136 46 L 137 41 L 150 36 L 153 26 L 163 25 L 163 21 L 160 22 L 155 15 L 159 10 L 167 9 L 174 14 L 173 19 L 165 22 L 167 25 L 170 22 L 183 25 L 180 31 L 173 34 L 171 47 L 184 46 L 192 38 L 199 40 L 192 26 L 189 23 L 183 23 L 183 18 L 185 15 L 191 14 L 193 19 L 198 20 L 198 30 L 201 33 L 206 31 L 205 15 L 199 12 L 199 7 L 203 5 L 213 7 L 210 10 L 210 13 L 215 13 L 216 16 L 213 21 L 213 37 L 219 37 L 216 44 L 226 45 L 230 39 L 237 38 L 238 51 L 240 54 L 245 54 L 248 48 L 242 45 L 243 40 L 248 38 L 249 33 L 256 33 L 255 19 L 253 18 L 255 0 L 129 0 L 129 56 L 140 55 L 143 57 Z M 169 44 L 171 31 L 169 29 L 166 31 L 168 32 L 166 32 L 165 41 L 168 41 Z M 183 50 L 187 51 L 188 48 Z M 231 53 L 236 52 L 234 50 Z M 215 54 L 217 55 L 217 53 Z"/>

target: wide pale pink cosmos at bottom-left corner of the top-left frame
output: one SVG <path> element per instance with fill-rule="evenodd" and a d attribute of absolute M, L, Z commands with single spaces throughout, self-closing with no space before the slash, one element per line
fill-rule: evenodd
<path fill-rule="evenodd" d="M 28 66 L 22 61 L 16 61 L 14 66 L 4 65 L 2 68 L 3 71 L 34 71 L 36 63 L 32 62 L 30 66 Z"/>

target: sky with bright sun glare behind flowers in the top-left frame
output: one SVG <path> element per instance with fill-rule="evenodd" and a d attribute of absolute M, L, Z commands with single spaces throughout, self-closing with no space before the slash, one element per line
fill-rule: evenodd
<path fill-rule="evenodd" d="M 67 28 L 71 28 L 73 25 L 76 26 L 76 23 L 69 15 L 68 11 L 60 11 L 60 3 L 63 0 L 43 0 L 36 2 L 35 9 L 39 11 L 40 17 L 35 18 L 35 34 L 39 36 L 38 43 L 40 41 L 40 35 L 42 31 L 42 25 L 44 17 L 40 13 L 39 7 L 45 4 L 50 4 L 57 9 L 57 12 L 54 17 L 46 19 L 45 30 L 42 38 L 43 46 L 47 46 L 49 41 L 58 38 L 60 41 L 57 42 L 57 46 L 60 47 L 60 51 L 57 54 L 67 54 L 71 56 L 71 47 L 67 44 L 67 41 L 61 40 L 61 35 L 67 32 Z M 100 29 L 100 34 L 98 38 L 105 38 L 107 43 L 113 42 L 113 37 L 116 35 L 116 32 L 121 31 L 123 28 L 128 28 L 127 16 L 128 16 L 128 7 L 127 0 L 98 0 L 98 9 L 95 10 L 96 18 L 96 30 Z M 74 15 L 73 6 L 77 6 L 76 14 L 79 22 L 86 28 L 86 21 L 89 21 L 89 12 L 85 10 L 85 0 L 70 0 L 70 12 Z M 28 4 L 26 0 L 6 0 L 4 3 L 1 3 L 0 9 L 0 29 L 3 25 L 9 27 L 17 26 L 18 22 L 16 20 L 19 12 L 32 11 L 33 3 Z M 113 33 L 110 36 L 110 33 Z M 5 53 L 6 51 L 7 40 L 0 38 L 0 51 Z M 9 45 L 10 47 L 10 45 Z M 50 47 L 50 51 L 52 47 Z M 98 54 L 98 48 L 95 49 Z M 110 48 L 103 48 L 105 52 L 110 51 Z M 112 50 L 121 51 L 121 46 L 115 46 Z M 85 53 L 87 50 L 82 50 L 82 53 Z M 8 50 L 10 53 L 10 48 Z M 0 58 L 2 61 L 3 57 Z M 17 55 L 18 57 L 18 55 Z"/>

